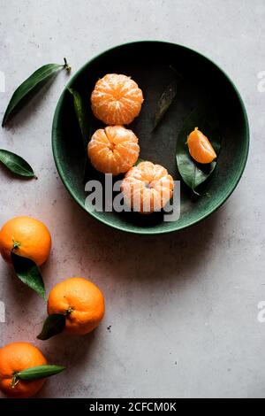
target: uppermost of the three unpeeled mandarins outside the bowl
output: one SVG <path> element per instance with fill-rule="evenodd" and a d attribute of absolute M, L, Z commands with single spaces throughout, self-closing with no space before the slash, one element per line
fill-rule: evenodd
<path fill-rule="evenodd" d="M 0 230 L 0 252 L 5 261 L 11 262 L 11 250 L 14 250 L 41 266 L 49 258 L 50 247 L 49 229 L 34 218 L 15 217 Z"/>

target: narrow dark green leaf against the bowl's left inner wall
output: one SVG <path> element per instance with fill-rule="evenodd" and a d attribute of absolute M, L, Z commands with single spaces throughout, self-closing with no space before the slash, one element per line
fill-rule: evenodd
<path fill-rule="evenodd" d="M 83 138 L 84 148 L 87 151 L 87 143 L 89 142 L 91 136 L 91 121 L 89 122 L 88 119 L 88 111 L 84 108 L 82 97 L 79 95 L 79 92 L 71 88 L 68 88 L 68 90 L 73 96 L 75 113 L 79 120 L 79 127 Z"/>

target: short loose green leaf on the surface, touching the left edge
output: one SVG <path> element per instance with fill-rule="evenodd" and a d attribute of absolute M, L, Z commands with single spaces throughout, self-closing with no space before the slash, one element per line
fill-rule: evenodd
<path fill-rule="evenodd" d="M 27 161 L 11 151 L 0 149 L 0 162 L 12 173 L 27 178 L 35 178 L 33 168 L 28 165 Z"/>

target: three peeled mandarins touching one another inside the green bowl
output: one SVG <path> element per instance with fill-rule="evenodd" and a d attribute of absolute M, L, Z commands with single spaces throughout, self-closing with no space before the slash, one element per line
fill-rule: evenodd
<path fill-rule="evenodd" d="M 87 146 L 88 157 L 96 170 L 118 175 L 126 173 L 121 190 L 125 204 L 134 212 L 161 211 L 170 200 L 174 181 L 167 170 L 139 159 L 138 137 L 124 127 L 140 114 L 143 95 L 130 77 L 108 73 L 96 82 L 91 108 L 97 119 L 109 125 L 92 135 Z"/>

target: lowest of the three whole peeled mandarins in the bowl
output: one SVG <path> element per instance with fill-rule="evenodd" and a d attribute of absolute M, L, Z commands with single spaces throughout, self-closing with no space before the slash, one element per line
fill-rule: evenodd
<path fill-rule="evenodd" d="M 168 171 L 152 162 L 140 162 L 125 174 L 121 190 L 133 211 L 161 211 L 173 195 L 174 181 Z"/>

